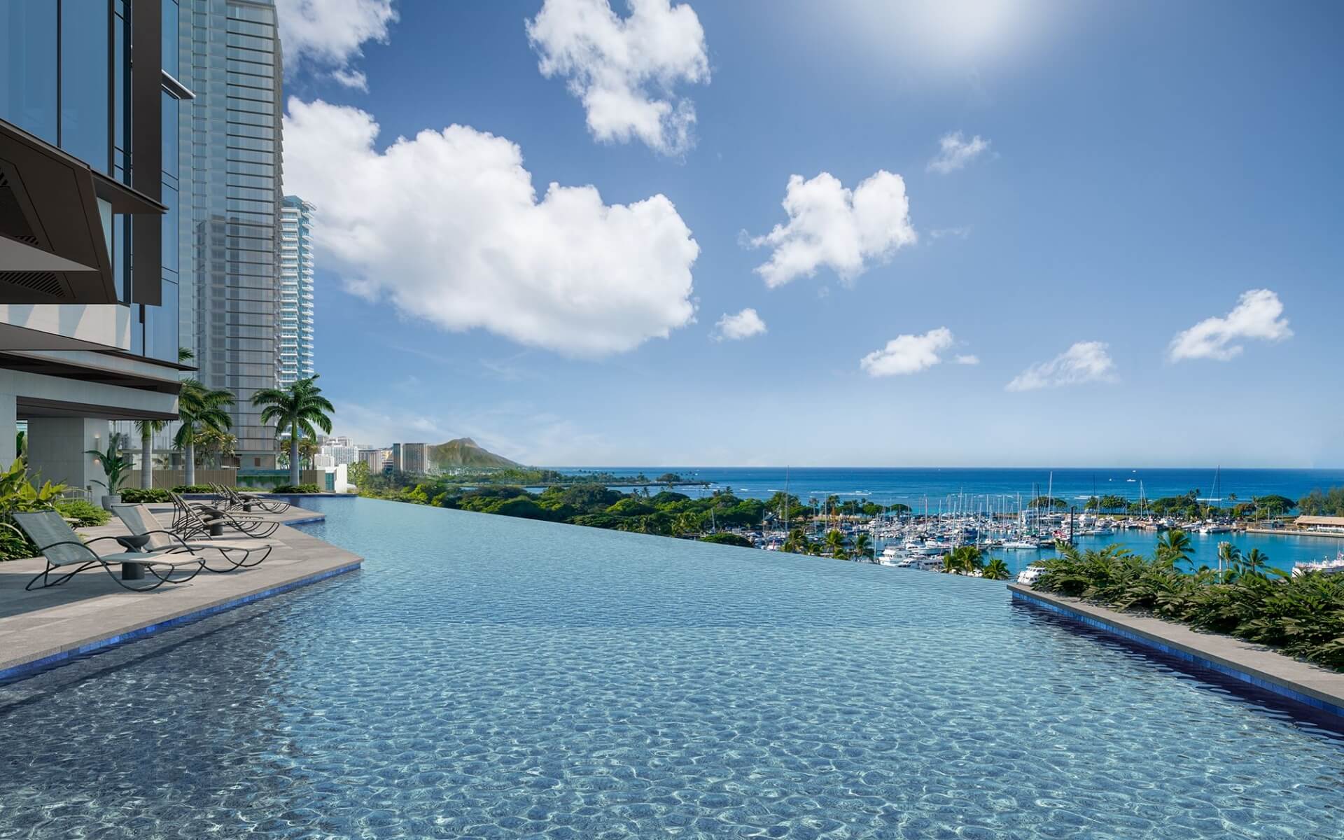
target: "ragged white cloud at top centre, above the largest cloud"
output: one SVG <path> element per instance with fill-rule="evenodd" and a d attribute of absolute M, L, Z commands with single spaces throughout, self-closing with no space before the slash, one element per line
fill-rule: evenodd
<path fill-rule="evenodd" d="M 622 19 L 607 0 L 546 0 L 527 22 L 527 38 L 542 75 L 569 81 L 598 140 L 633 137 L 664 155 L 694 145 L 695 105 L 673 89 L 708 82 L 710 58 L 689 5 L 630 0 Z"/>

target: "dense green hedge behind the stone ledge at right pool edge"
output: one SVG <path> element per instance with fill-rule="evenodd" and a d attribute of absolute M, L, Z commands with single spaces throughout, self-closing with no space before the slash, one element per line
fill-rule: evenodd
<path fill-rule="evenodd" d="M 1185 540 L 1179 531 L 1169 535 Z M 1259 551 L 1234 552 L 1224 571 L 1185 571 L 1188 554 L 1169 544 L 1159 543 L 1152 559 L 1120 546 L 1064 547 L 1059 558 L 1036 563 L 1044 571 L 1032 587 L 1152 613 L 1344 671 L 1344 575 L 1292 577 L 1270 569 Z"/>

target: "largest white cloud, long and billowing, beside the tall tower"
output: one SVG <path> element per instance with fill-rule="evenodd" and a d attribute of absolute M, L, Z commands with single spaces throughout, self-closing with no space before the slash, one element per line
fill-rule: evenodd
<path fill-rule="evenodd" d="M 452 125 L 380 152 L 378 130 L 321 101 L 290 99 L 285 116 L 285 191 L 317 206 L 317 246 L 352 292 L 570 356 L 694 320 L 700 247 L 667 196 L 603 204 L 595 187 L 552 183 L 538 200 L 503 137 Z"/>

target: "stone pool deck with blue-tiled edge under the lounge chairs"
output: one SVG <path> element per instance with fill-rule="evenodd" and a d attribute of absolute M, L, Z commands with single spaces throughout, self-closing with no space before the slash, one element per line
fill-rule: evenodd
<path fill-rule="evenodd" d="M 172 517 L 171 508 L 151 505 L 151 509 L 160 521 Z M 270 543 L 274 550 L 265 562 L 228 574 L 202 571 L 187 583 L 165 583 L 149 593 L 126 591 L 102 569 L 85 570 L 60 586 L 24 591 L 46 560 L 0 563 L 0 680 L 35 673 L 99 648 L 355 571 L 363 563 L 358 555 L 289 527 L 320 521 L 321 513 L 292 507 L 284 513 L 259 516 L 285 524 L 266 539 L 234 535 L 241 539 L 227 542 Z M 78 531 L 89 539 L 128 534 L 116 517 L 106 526 Z M 95 548 L 99 554 L 122 551 L 114 540 L 98 543 Z M 216 554 L 211 551 L 207 556 Z M 220 564 L 211 562 L 211 566 Z"/>

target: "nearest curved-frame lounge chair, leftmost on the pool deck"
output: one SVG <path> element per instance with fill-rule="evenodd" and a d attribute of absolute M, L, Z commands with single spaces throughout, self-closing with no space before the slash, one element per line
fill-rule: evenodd
<path fill-rule="evenodd" d="M 159 589 L 164 583 L 185 583 L 200 574 L 200 570 L 206 567 L 206 562 L 200 558 L 168 556 L 167 551 L 122 551 L 99 556 L 98 552 L 89 546 L 102 540 L 114 539 L 124 547 L 130 548 L 136 540 L 121 536 L 99 536 L 98 539 L 91 539 L 86 543 L 79 539 L 79 535 L 74 532 L 74 528 L 71 528 L 70 524 L 60 517 L 60 513 L 55 511 L 13 513 L 13 521 L 23 528 L 23 532 L 27 534 L 34 543 L 36 543 L 38 550 L 42 551 L 42 556 L 47 560 L 47 567 L 42 570 L 42 574 L 38 574 L 28 581 L 28 585 L 24 586 L 26 590 L 59 586 L 85 569 L 93 569 L 97 566 L 103 569 L 118 586 L 136 593 L 146 593 L 152 589 Z M 121 577 L 117 577 L 113 571 L 113 566 L 117 564 L 121 564 Z M 179 567 L 191 566 L 195 566 L 195 571 L 185 578 L 172 579 L 169 577 Z M 129 586 L 126 583 L 126 581 L 140 579 L 145 569 L 149 570 L 149 574 L 157 578 L 156 583 L 149 586 Z M 160 571 L 164 569 L 167 571 Z M 55 579 L 51 578 L 52 573 L 58 573 Z M 42 581 L 40 586 L 38 586 L 38 581 Z"/>

